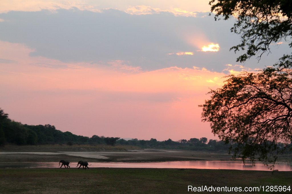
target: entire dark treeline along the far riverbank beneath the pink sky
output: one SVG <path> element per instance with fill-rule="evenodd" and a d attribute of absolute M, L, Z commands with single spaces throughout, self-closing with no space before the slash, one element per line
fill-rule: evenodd
<path fill-rule="evenodd" d="M 52 125 L 27 125 L 12 121 L 8 114 L 0 109 L 0 145 L 6 143 L 17 145 L 41 145 L 41 144 L 108 144 L 108 145 L 131 145 L 141 148 L 164 148 L 164 149 L 192 149 L 192 150 L 227 150 L 230 145 L 222 141 L 207 140 L 206 137 L 191 138 L 190 140 L 165 141 L 151 140 L 124 140 L 119 137 L 104 137 L 93 135 L 85 137 L 74 135 L 69 131 L 62 132 Z"/>

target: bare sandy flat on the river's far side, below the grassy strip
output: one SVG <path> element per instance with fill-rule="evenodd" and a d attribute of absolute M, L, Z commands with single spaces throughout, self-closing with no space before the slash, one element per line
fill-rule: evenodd
<path fill-rule="evenodd" d="M 231 156 L 224 153 L 141 149 L 127 151 L 58 151 L 27 152 L 0 151 L 0 162 L 164 162 L 164 161 L 228 161 Z"/>

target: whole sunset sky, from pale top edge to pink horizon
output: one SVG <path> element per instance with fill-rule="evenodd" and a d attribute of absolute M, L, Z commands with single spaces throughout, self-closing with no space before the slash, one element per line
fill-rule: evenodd
<path fill-rule="evenodd" d="M 209 14 L 208 0 L 0 1 L 0 107 L 87 137 L 218 139 L 201 122 L 208 91 L 288 46 L 240 64 L 235 19 Z"/>

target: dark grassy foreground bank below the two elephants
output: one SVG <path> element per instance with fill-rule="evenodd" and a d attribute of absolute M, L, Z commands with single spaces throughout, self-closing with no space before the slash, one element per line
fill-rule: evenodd
<path fill-rule="evenodd" d="M 291 183 L 291 172 L 147 168 L 0 169 L 0 193 L 188 193 L 189 185 L 292 187 Z"/>

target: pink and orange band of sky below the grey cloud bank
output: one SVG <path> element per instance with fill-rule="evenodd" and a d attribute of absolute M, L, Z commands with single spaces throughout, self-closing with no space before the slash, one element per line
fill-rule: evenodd
<path fill-rule="evenodd" d="M 222 85 L 223 73 L 178 67 L 142 71 L 121 61 L 110 67 L 66 64 L 29 57 L 33 50 L 8 42 L 0 42 L 0 50 L 0 58 L 12 61 L 1 64 L 1 108 L 15 121 L 89 137 L 215 138 L 201 122 L 198 105 L 208 88 Z"/>

